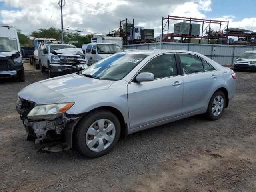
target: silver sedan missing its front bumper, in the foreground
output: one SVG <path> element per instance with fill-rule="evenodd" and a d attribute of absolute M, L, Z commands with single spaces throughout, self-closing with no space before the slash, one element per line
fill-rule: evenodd
<path fill-rule="evenodd" d="M 210 58 L 180 50 L 119 52 L 74 74 L 31 84 L 16 106 L 43 150 L 76 148 L 95 158 L 120 137 L 197 114 L 217 120 L 234 97 L 236 74 Z"/>

